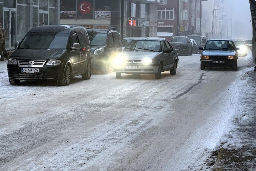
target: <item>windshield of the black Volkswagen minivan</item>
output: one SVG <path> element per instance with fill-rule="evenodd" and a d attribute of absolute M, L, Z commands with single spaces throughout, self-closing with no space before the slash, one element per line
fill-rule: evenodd
<path fill-rule="evenodd" d="M 19 49 L 66 49 L 67 33 L 27 33 Z"/>

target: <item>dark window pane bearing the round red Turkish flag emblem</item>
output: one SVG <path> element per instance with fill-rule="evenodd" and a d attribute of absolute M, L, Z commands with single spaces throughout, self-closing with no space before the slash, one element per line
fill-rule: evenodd
<path fill-rule="evenodd" d="M 77 18 L 93 18 L 93 0 L 77 0 Z"/>

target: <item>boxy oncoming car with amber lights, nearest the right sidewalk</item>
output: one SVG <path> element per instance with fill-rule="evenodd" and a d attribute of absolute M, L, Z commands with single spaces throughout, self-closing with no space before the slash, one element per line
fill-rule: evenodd
<path fill-rule="evenodd" d="M 237 50 L 233 40 L 209 39 L 203 48 L 200 47 L 200 69 L 205 67 L 232 67 L 237 70 Z"/>

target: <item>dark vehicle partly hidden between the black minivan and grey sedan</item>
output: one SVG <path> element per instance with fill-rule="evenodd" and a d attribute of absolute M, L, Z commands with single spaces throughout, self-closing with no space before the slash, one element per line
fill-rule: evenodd
<path fill-rule="evenodd" d="M 120 34 L 115 28 L 88 29 L 91 42 L 92 70 L 108 73 L 109 63 L 118 48 L 121 48 Z"/>

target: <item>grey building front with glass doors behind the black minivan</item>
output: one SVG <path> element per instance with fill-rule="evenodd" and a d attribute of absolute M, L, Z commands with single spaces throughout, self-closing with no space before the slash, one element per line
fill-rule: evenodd
<path fill-rule="evenodd" d="M 33 27 L 60 24 L 60 0 L 0 0 L 0 26 L 6 49 L 13 50 Z"/>

